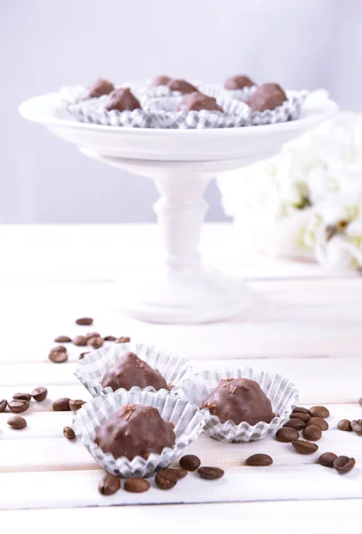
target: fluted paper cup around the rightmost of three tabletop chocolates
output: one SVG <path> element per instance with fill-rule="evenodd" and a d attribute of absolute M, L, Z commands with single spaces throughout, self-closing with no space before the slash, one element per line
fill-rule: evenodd
<path fill-rule="evenodd" d="M 246 422 L 235 425 L 230 420 L 222 424 L 219 417 L 211 415 L 208 409 L 201 409 L 205 416 L 204 432 L 215 440 L 228 443 L 262 440 L 282 425 L 299 401 L 299 393 L 288 378 L 253 368 L 223 368 L 196 373 L 181 384 L 177 394 L 181 399 L 200 408 L 221 378 L 229 377 L 250 378 L 260 384 L 262 391 L 271 401 L 276 417 L 269 424 L 261 421 L 256 425 Z"/>

